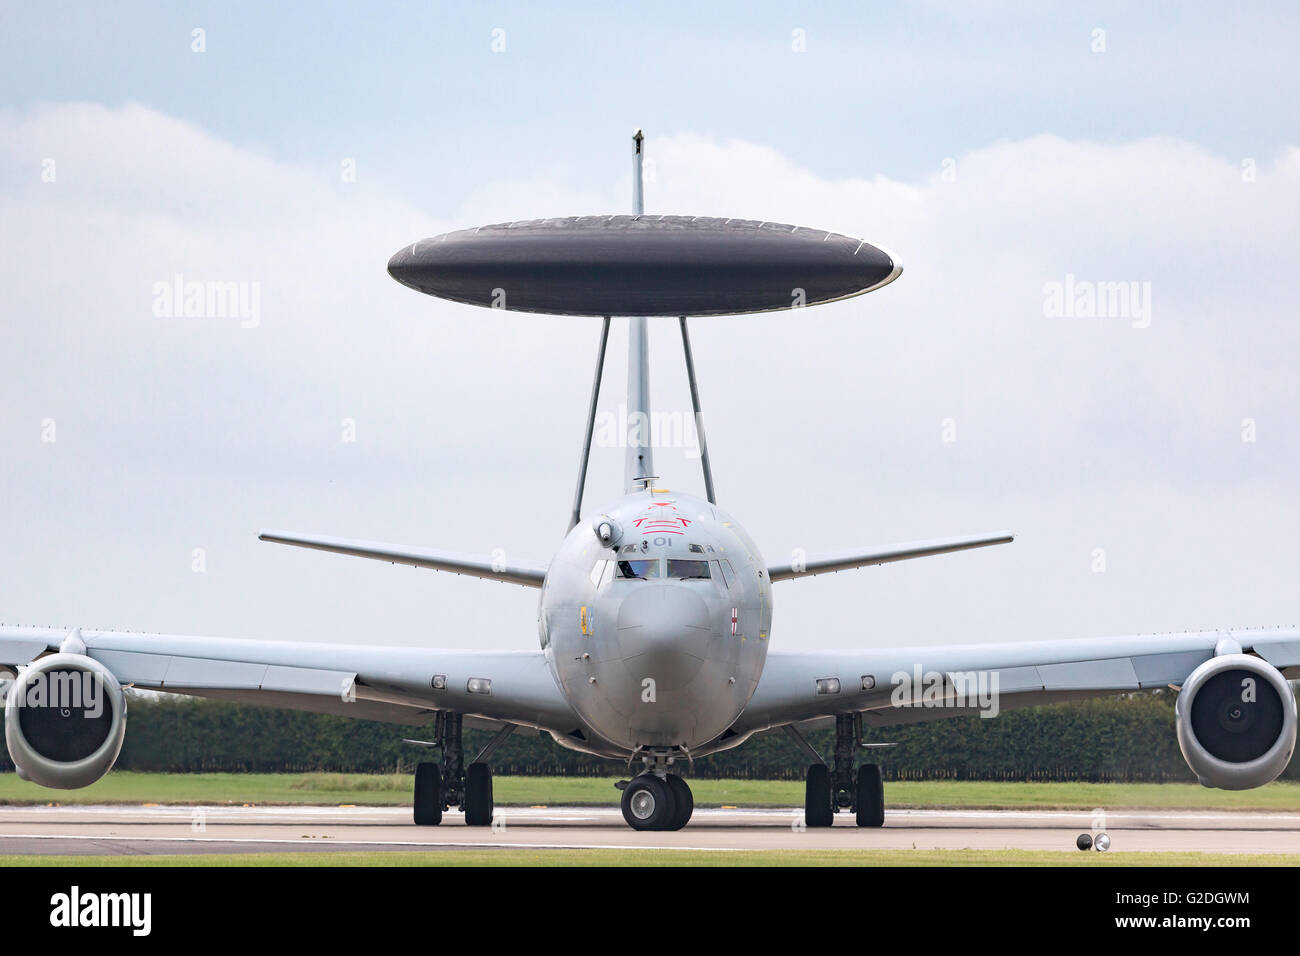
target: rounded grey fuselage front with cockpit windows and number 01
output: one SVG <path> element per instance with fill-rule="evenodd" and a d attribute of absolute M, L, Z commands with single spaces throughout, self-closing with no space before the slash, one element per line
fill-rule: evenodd
<path fill-rule="evenodd" d="M 758 685 L 771 626 L 767 567 L 731 515 L 666 489 L 628 494 L 568 533 L 542 585 L 542 648 L 584 723 L 563 743 L 715 749 Z"/>

